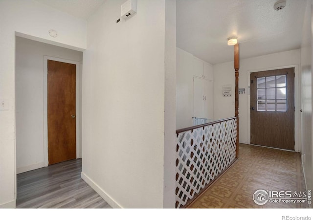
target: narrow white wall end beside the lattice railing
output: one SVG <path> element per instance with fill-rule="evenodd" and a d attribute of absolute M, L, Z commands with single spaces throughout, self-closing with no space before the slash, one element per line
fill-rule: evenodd
<path fill-rule="evenodd" d="M 164 208 L 176 196 L 176 0 L 165 1 Z"/>

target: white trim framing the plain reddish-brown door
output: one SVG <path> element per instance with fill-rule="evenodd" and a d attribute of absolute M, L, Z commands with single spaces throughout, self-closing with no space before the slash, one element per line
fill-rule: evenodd
<path fill-rule="evenodd" d="M 81 89 L 80 89 L 80 81 L 81 81 L 81 64 L 77 61 L 66 60 L 57 57 L 50 57 L 44 56 L 44 162 L 45 167 L 48 166 L 48 108 L 47 108 L 47 69 L 48 69 L 48 60 L 68 63 L 68 64 L 75 64 L 76 65 L 76 158 L 81 158 Z"/>

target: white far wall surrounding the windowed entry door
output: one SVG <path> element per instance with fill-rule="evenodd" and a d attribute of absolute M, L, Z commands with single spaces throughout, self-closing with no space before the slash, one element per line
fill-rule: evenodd
<path fill-rule="evenodd" d="M 265 56 L 252 57 L 240 60 L 239 68 L 239 88 L 246 88 L 245 94 L 239 94 L 239 117 L 240 117 L 240 131 L 239 141 L 241 143 L 250 143 L 249 137 L 249 123 L 248 113 L 250 106 L 248 105 L 248 73 L 261 70 L 268 70 L 282 66 L 300 66 L 300 49 L 290 50 L 285 52 L 268 54 Z M 295 68 L 295 73 L 298 73 L 298 67 Z M 235 115 L 235 69 L 234 62 L 227 62 L 216 64 L 213 66 L 213 80 L 214 80 L 214 117 L 228 118 Z M 298 76 L 295 78 L 298 83 Z M 223 97 L 223 85 L 232 85 L 232 96 Z M 298 88 L 297 86 L 295 88 Z M 299 128 L 299 94 L 295 94 L 295 129 Z M 295 136 L 296 142 L 298 137 Z"/>

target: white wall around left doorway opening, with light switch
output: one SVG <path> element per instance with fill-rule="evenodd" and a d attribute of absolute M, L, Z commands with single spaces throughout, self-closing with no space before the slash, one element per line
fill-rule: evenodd
<path fill-rule="evenodd" d="M 49 29 L 57 30 L 58 37 L 50 37 Z M 1 0 L 0 30 L 0 98 L 10 102 L 9 110 L 0 111 L 0 207 L 15 207 L 15 34 L 83 50 L 86 22 L 36 1 Z"/>

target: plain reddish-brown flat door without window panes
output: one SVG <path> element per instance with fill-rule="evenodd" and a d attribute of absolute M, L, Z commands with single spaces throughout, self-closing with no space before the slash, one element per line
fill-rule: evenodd
<path fill-rule="evenodd" d="M 76 158 L 76 65 L 48 60 L 49 165 Z"/>

